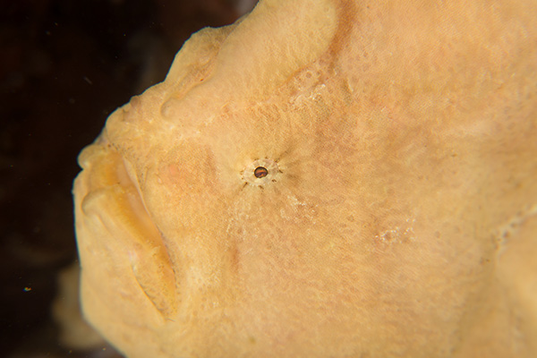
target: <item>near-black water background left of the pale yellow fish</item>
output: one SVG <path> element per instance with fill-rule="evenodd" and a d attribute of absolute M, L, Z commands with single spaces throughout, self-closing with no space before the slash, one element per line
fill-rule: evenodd
<path fill-rule="evenodd" d="M 0 0 L 0 354 L 70 351 L 50 315 L 59 270 L 76 260 L 76 157 L 132 95 L 164 80 L 192 32 L 255 0 Z"/>

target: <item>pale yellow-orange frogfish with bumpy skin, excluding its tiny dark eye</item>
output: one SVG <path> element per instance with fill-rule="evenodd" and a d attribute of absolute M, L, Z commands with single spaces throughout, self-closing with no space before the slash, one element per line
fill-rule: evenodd
<path fill-rule="evenodd" d="M 536 7 L 194 34 L 81 153 L 87 319 L 132 358 L 537 356 Z"/>

